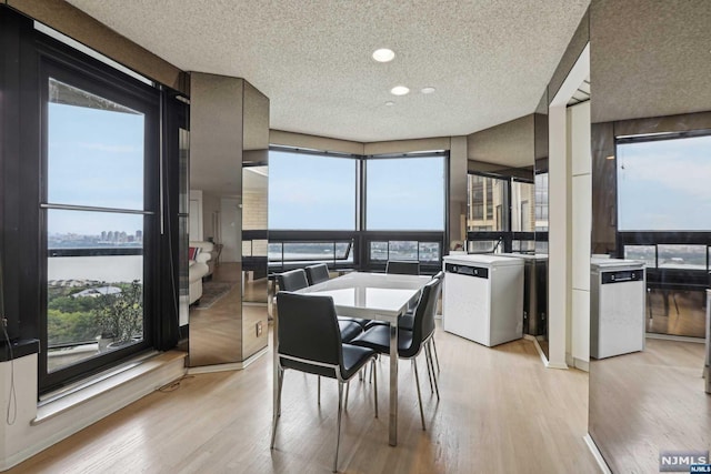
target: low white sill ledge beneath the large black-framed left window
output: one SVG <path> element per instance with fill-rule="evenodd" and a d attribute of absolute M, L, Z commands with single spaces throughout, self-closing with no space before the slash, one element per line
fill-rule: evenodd
<path fill-rule="evenodd" d="M 110 392 L 151 372 L 169 364 L 179 363 L 178 361 L 184 361 L 186 355 L 187 353 L 184 352 L 169 351 L 156 353 L 148 357 L 142 356 L 90 380 L 82 381 L 78 385 L 64 389 L 59 393 L 50 394 L 46 400 L 40 401 L 37 407 L 37 416 L 30 424 L 33 426 L 39 425 L 99 396 L 108 395 Z"/>

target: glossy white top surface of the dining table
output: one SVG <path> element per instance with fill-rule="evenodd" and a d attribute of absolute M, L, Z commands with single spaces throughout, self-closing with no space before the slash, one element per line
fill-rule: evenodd
<path fill-rule="evenodd" d="M 430 280 L 430 276 L 353 272 L 297 293 L 333 297 L 336 311 L 341 316 L 394 323 Z"/>

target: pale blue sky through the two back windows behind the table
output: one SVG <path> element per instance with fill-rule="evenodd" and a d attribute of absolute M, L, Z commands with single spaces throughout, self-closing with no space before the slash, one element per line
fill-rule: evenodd
<path fill-rule="evenodd" d="M 269 229 L 354 230 L 357 161 L 269 154 Z M 444 159 L 368 161 L 368 230 L 444 229 Z"/>

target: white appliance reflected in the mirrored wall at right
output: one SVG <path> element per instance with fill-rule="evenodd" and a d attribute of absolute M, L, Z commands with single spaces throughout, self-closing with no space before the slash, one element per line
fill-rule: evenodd
<path fill-rule="evenodd" d="M 590 261 L 590 356 L 611 357 L 644 350 L 644 263 Z"/>

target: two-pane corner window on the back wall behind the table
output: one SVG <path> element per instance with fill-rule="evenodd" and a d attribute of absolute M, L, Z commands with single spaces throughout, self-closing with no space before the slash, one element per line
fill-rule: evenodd
<path fill-rule="evenodd" d="M 438 268 L 445 229 L 443 152 L 360 157 L 272 148 L 269 259 L 273 271 L 327 262 Z"/>

